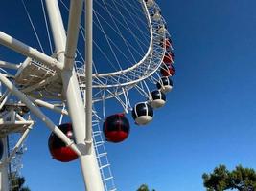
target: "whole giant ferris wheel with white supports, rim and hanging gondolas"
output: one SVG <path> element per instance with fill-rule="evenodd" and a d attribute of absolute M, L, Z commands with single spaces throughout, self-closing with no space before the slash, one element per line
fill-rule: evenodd
<path fill-rule="evenodd" d="M 0 190 L 10 189 L 9 164 L 23 149 L 33 117 L 52 131 L 54 159 L 80 159 L 86 190 L 117 190 L 105 142 L 128 138 L 128 115 L 134 126 L 147 125 L 165 105 L 175 74 L 167 23 L 154 0 L 37 3 L 43 24 L 37 16 L 34 22 L 38 9 L 21 0 L 35 47 L 0 32 L 1 45 L 25 56 L 20 64 L 0 61 Z M 41 108 L 55 112 L 58 124 Z M 8 148 L 13 135 L 16 143 Z"/>

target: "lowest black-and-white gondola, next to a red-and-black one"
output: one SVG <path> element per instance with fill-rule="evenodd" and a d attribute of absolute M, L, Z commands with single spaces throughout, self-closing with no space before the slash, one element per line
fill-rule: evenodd
<path fill-rule="evenodd" d="M 153 109 L 147 102 L 137 103 L 132 110 L 132 117 L 137 125 L 146 125 L 152 120 Z"/>

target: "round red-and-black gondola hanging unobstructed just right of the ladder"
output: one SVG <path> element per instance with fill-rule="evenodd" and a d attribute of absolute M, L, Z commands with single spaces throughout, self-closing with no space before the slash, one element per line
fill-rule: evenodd
<path fill-rule="evenodd" d="M 106 141 L 121 142 L 128 138 L 129 122 L 124 114 L 115 114 L 105 118 L 103 131 Z"/>

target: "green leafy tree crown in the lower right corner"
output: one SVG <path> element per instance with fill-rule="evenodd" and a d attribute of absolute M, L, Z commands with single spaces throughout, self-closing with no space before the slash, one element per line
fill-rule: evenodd
<path fill-rule="evenodd" d="M 213 173 L 202 175 L 203 185 L 207 191 L 256 191 L 256 173 L 252 168 L 242 165 L 228 171 L 224 165 L 216 167 Z"/>

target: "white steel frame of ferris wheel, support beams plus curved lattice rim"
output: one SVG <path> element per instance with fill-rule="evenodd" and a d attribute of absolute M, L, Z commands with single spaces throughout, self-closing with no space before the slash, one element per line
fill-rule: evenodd
<path fill-rule="evenodd" d="M 92 74 L 93 0 L 84 0 L 84 2 L 83 0 L 70 1 L 67 34 L 65 33 L 63 27 L 63 22 L 58 7 L 58 0 L 45 0 L 45 2 L 54 37 L 57 58 L 53 58 L 44 53 L 40 53 L 34 48 L 20 42 L 19 40 L 14 39 L 12 36 L 4 32 L 0 32 L 0 44 L 14 50 L 17 53 L 21 53 L 27 57 L 35 59 L 41 64 L 48 66 L 51 70 L 54 70 L 57 74 L 21 91 L 12 84 L 12 82 L 6 77 L 5 74 L 0 73 L 0 82 L 2 82 L 9 90 L 9 92 L 6 93 L 6 97 L 12 93 L 12 95 L 19 98 L 23 103 L 26 104 L 26 106 L 36 117 L 41 118 L 45 124 L 66 143 L 67 146 L 71 147 L 78 154 L 81 160 L 81 172 L 86 190 L 104 191 L 105 188 L 97 162 L 92 138 L 92 103 L 93 101 L 100 101 L 101 97 L 96 97 L 93 99 L 92 88 L 105 89 L 106 92 L 108 92 L 108 95 L 106 95 L 105 98 L 118 96 L 120 94 L 124 94 L 125 96 L 124 91 L 128 91 L 137 83 L 155 73 L 159 69 L 166 52 L 165 48 L 159 45 L 159 39 L 164 39 L 166 32 L 157 32 L 159 25 L 164 26 L 165 21 L 160 19 L 160 21 L 154 22 L 152 20 L 151 14 L 153 13 L 154 9 L 159 8 L 155 3 L 152 7 L 149 8 L 147 7 L 145 1 L 141 0 L 141 4 L 149 21 L 148 25 L 150 27 L 151 34 L 150 46 L 147 53 L 141 61 L 128 69 L 109 74 Z M 81 97 L 81 87 L 78 81 L 80 76 L 74 69 L 75 53 L 77 49 L 83 3 L 85 4 L 84 7 L 86 9 L 86 63 L 84 64 L 86 68 L 84 69 L 85 78 L 83 79 L 86 81 L 86 91 L 84 97 L 85 111 L 83 105 L 84 103 Z M 0 66 L 14 70 L 19 70 L 22 68 L 22 64 L 14 65 L 5 61 L 0 61 Z M 61 110 L 53 104 L 31 96 L 26 96 L 24 94 L 57 80 L 58 74 L 61 75 L 64 93 L 63 96 L 67 100 L 68 110 Z M 5 100 L 7 99 L 6 97 Z M 70 138 L 67 138 L 51 121 L 51 119 L 44 115 L 35 104 L 55 110 L 61 115 L 69 115 L 72 120 L 76 144 Z M 1 103 L 1 107 L 2 106 L 3 102 Z M 20 138 L 16 147 L 14 148 L 14 151 L 26 138 L 30 128 L 28 128 Z M 10 161 L 10 159 L 7 158 L 5 161 Z M 2 183 L 2 186 L 5 185 Z"/>

